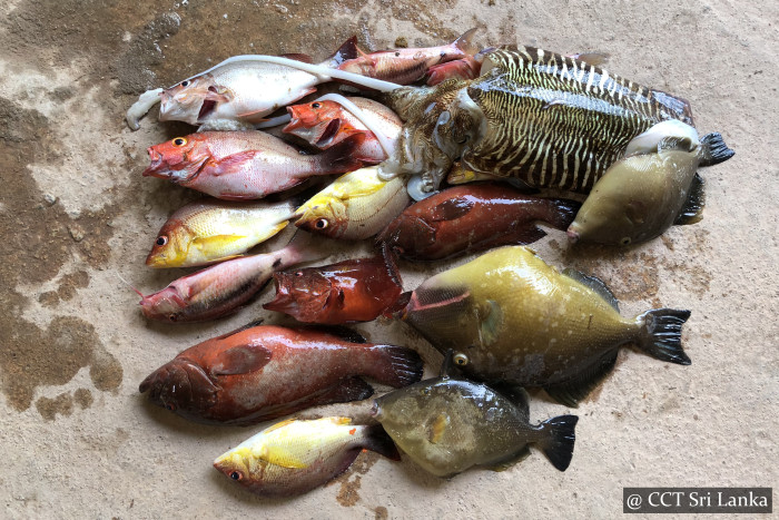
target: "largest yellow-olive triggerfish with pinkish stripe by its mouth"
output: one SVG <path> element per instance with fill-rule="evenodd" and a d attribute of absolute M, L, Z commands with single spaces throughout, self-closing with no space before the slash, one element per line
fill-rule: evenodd
<path fill-rule="evenodd" d="M 603 282 L 558 272 L 523 246 L 493 249 L 440 273 L 411 295 L 403 318 L 436 349 L 452 349 L 481 381 L 541 386 L 574 406 L 633 343 L 658 360 L 690 364 L 681 346 L 690 311 L 620 315 Z"/>

